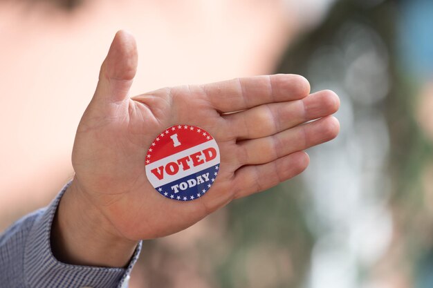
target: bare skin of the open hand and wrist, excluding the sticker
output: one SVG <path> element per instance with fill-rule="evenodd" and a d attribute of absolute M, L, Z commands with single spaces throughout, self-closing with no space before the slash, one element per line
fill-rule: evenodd
<path fill-rule="evenodd" d="M 340 105 L 338 96 L 330 90 L 310 94 L 308 81 L 299 75 L 129 97 L 137 55 L 132 35 L 118 32 L 77 128 L 75 177 L 60 201 L 51 237 L 62 262 L 124 267 L 139 240 L 186 229 L 234 199 L 298 175 L 309 162 L 304 149 L 338 135 L 338 120 L 331 116 Z M 176 124 L 204 128 L 221 153 L 210 191 L 188 202 L 159 195 L 145 173 L 147 149 Z"/>

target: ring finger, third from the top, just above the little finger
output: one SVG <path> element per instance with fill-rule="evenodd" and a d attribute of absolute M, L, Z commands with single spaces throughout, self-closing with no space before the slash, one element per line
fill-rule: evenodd
<path fill-rule="evenodd" d="M 295 151 L 333 140 L 339 131 L 338 120 L 329 116 L 268 137 L 239 142 L 239 166 L 274 161 Z"/>

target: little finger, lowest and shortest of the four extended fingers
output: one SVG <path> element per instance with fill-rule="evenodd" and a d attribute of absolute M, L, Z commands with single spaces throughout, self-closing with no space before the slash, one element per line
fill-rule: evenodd
<path fill-rule="evenodd" d="M 310 159 L 304 151 L 286 155 L 273 162 L 243 166 L 234 175 L 234 198 L 242 198 L 264 191 L 300 174 Z"/>

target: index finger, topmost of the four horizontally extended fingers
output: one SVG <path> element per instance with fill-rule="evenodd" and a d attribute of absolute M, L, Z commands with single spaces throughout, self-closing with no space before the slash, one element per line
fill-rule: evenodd
<path fill-rule="evenodd" d="M 221 113 L 301 99 L 310 92 L 310 84 L 304 77 L 286 74 L 237 78 L 205 84 L 201 88 Z"/>

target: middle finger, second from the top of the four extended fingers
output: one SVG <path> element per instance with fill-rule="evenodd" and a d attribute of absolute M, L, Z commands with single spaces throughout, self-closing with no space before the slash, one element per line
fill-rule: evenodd
<path fill-rule="evenodd" d="M 237 139 L 254 139 L 331 115 L 339 106 L 338 96 L 331 90 L 323 90 L 304 99 L 264 104 L 223 117 L 230 123 Z"/>

